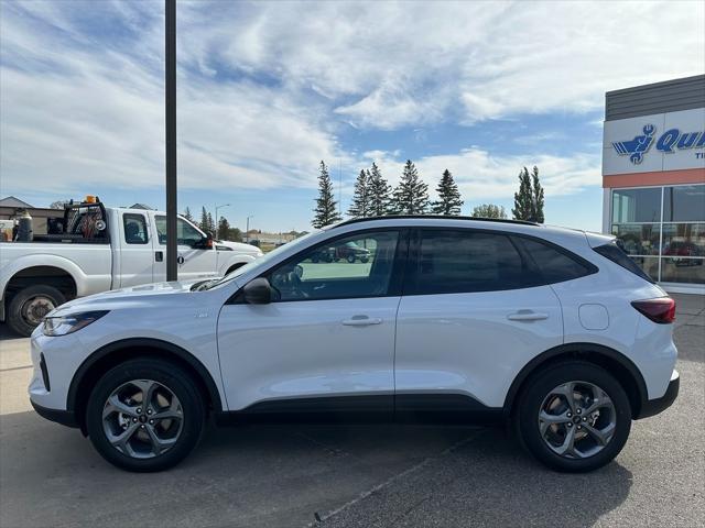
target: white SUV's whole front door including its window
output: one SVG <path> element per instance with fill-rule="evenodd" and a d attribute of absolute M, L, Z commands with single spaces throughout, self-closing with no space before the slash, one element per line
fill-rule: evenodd
<path fill-rule="evenodd" d="M 366 262 L 321 257 L 349 242 Z M 345 235 L 267 272 L 271 304 L 226 304 L 218 352 L 230 410 L 391 415 L 402 245 L 397 230 Z"/>

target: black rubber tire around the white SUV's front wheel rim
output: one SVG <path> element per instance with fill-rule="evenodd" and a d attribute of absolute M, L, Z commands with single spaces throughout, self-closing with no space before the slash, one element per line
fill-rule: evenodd
<path fill-rule="evenodd" d="M 134 380 L 151 380 L 180 400 L 183 426 L 176 442 L 161 454 L 149 459 L 129 457 L 110 443 L 104 430 L 102 411 L 108 397 L 121 385 Z M 121 363 L 98 381 L 86 409 L 88 436 L 100 455 L 111 464 L 139 473 L 156 472 L 173 468 L 198 444 L 206 421 L 204 397 L 192 376 L 177 365 L 159 359 L 130 360 Z"/>

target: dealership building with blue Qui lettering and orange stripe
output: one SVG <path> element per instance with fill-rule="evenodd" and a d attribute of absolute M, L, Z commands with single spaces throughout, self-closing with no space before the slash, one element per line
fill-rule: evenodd
<path fill-rule="evenodd" d="M 705 294 L 705 75 L 609 91 L 603 230 L 666 290 Z"/>

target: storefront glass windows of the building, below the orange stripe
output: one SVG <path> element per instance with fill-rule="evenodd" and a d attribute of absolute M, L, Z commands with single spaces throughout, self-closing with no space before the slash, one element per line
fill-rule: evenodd
<path fill-rule="evenodd" d="M 652 278 L 705 284 L 705 185 L 612 190 L 612 234 Z"/>

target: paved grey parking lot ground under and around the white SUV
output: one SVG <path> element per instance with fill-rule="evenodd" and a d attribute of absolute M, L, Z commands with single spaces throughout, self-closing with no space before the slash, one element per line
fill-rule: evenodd
<path fill-rule="evenodd" d="M 2 328 L 0 526 L 704 526 L 705 297 L 675 297 L 679 399 L 583 475 L 501 429 L 394 426 L 212 428 L 176 469 L 126 473 L 31 410 L 28 340 Z"/>

